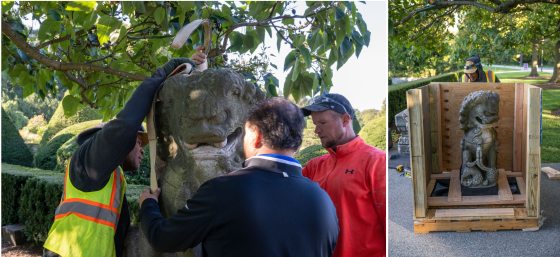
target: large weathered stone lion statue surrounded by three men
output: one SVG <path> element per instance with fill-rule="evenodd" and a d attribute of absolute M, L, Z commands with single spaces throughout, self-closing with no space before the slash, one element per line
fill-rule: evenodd
<path fill-rule="evenodd" d="M 246 116 L 264 98 L 258 87 L 229 69 L 209 69 L 190 76 L 179 73 L 164 82 L 155 124 L 160 206 L 166 217 L 183 208 L 205 181 L 241 168 Z M 142 242 L 136 241 L 138 246 L 127 250 L 127 256 L 201 255 L 196 249 L 156 253 L 143 235 L 131 237 Z M 132 244 L 127 243 L 127 247 Z"/>

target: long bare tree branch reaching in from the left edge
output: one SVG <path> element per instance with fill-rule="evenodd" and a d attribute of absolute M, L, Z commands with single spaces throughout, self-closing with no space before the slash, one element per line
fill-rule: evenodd
<path fill-rule="evenodd" d="M 29 57 L 37 60 L 41 64 L 58 71 L 71 71 L 71 70 L 83 70 L 83 71 L 101 71 L 111 75 L 127 78 L 130 80 L 144 80 L 147 77 L 142 74 L 129 73 L 125 71 L 113 70 L 108 67 L 84 64 L 84 63 L 66 63 L 53 60 L 47 56 L 42 55 L 39 50 L 35 47 L 29 45 L 23 37 L 14 32 L 11 26 L 4 20 L 2 20 L 2 33 L 10 39 L 19 49 L 21 49 Z"/>

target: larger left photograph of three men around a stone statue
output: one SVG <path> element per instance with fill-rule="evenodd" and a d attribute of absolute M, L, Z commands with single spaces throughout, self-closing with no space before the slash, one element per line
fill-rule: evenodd
<path fill-rule="evenodd" d="M 386 256 L 386 1 L 2 14 L 2 256 Z"/>

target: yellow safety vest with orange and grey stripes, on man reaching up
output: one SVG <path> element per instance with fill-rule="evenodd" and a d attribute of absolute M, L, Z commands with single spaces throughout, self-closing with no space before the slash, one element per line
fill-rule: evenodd
<path fill-rule="evenodd" d="M 72 185 L 69 166 L 44 247 L 63 257 L 116 256 L 114 238 L 126 192 L 122 169 L 117 167 L 102 189 L 84 192 Z"/>

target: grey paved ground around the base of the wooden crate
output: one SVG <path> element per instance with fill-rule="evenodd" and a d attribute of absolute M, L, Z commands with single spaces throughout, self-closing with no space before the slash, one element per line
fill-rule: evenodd
<path fill-rule="evenodd" d="M 390 151 L 390 153 L 394 153 Z M 560 180 L 549 180 L 541 173 L 541 210 L 545 217 L 539 231 L 434 232 L 414 234 L 412 223 L 411 179 L 394 168 L 408 156 L 389 160 L 389 257 L 510 257 L 560 256 Z M 560 163 L 543 164 L 560 169 Z"/>

